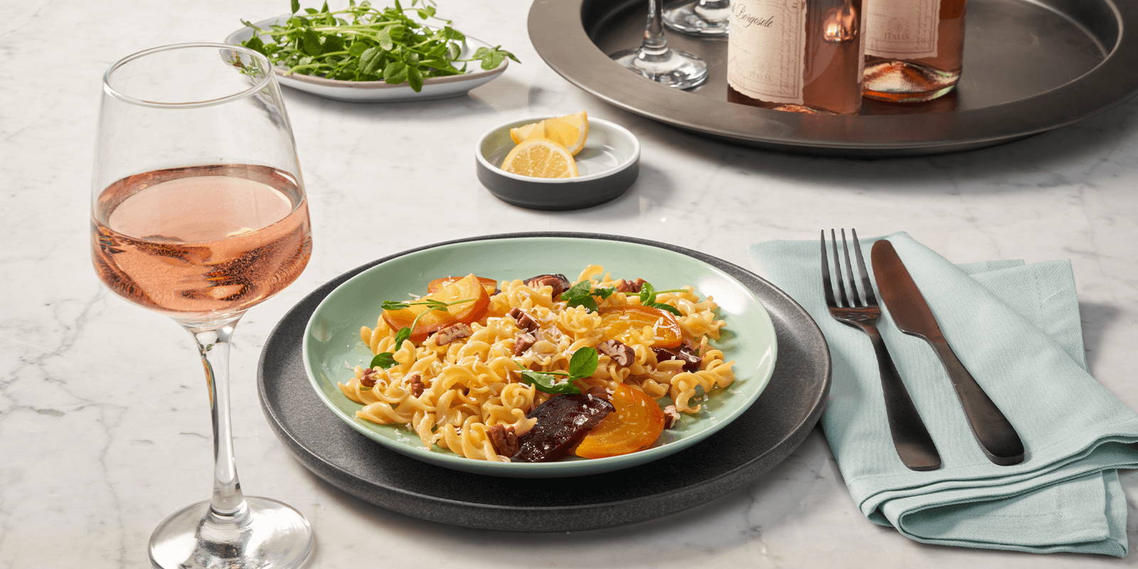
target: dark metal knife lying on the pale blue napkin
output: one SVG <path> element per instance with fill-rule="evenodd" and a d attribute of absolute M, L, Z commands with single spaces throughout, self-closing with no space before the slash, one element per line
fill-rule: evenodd
<path fill-rule="evenodd" d="M 968 419 L 968 427 L 988 460 L 1001 467 L 1023 462 L 1023 442 L 1004 413 L 953 353 L 937 324 L 937 318 L 901 263 L 893 244 L 884 239 L 873 244 L 871 259 L 877 290 L 893 322 L 902 332 L 916 336 L 932 346 L 953 381 L 956 396 Z"/>

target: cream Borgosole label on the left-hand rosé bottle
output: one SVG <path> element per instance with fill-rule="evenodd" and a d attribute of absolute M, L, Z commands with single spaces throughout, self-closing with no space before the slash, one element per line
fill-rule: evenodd
<path fill-rule="evenodd" d="M 767 102 L 802 104 L 806 0 L 732 0 L 727 84 Z"/>

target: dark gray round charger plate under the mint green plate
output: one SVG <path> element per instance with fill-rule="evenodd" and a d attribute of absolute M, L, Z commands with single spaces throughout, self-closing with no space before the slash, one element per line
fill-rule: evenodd
<path fill-rule="evenodd" d="M 679 251 L 727 272 L 762 300 L 774 321 L 778 357 L 759 399 L 714 437 L 632 469 L 550 480 L 469 475 L 388 451 L 352 430 L 316 397 L 300 340 L 316 305 L 340 283 L 385 261 L 462 241 L 510 237 L 611 239 Z M 822 415 L 830 391 L 830 349 L 792 298 L 750 271 L 691 249 L 594 233 L 504 233 L 406 250 L 348 271 L 300 300 L 277 324 L 261 354 L 257 387 L 277 436 L 306 468 L 361 500 L 415 518 L 511 531 L 594 529 L 659 518 L 742 487 L 797 448 Z"/>

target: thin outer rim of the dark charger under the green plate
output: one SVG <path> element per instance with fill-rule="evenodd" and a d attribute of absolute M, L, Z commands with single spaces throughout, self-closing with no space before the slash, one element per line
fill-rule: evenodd
<path fill-rule="evenodd" d="M 384 262 L 390 261 L 393 258 L 402 257 L 404 255 L 409 255 L 409 254 L 412 254 L 412 253 L 418 253 L 418 251 L 421 251 L 421 250 L 424 250 L 424 249 L 430 249 L 430 248 L 434 248 L 434 247 L 440 247 L 440 246 L 445 246 L 445 245 L 453 245 L 453 244 L 461 244 L 461 242 L 469 242 L 469 241 L 488 241 L 488 240 L 495 240 L 495 239 L 535 238 L 535 237 L 537 237 L 537 238 L 541 238 L 541 237 L 578 238 L 578 239 L 597 239 L 597 240 L 625 241 L 625 242 L 633 242 L 633 244 L 645 245 L 645 246 L 650 246 L 650 247 L 658 247 L 658 248 L 671 250 L 671 251 L 675 251 L 675 253 L 679 253 L 682 255 L 691 256 L 691 257 L 693 257 L 693 258 L 695 258 L 698 261 L 702 261 L 702 262 L 706 262 L 706 263 L 709 263 L 709 262 L 721 263 L 723 265 L 725 265 L 727 267 L 731 267 L 732 270 L 737 270 L 740 272 L 747 273 L 749 277 L 752 277 L 752 278 L 754 278 L 754 279 L 757 279 L 759 281 L 762 281 L 762 282 L 767 283 L 770 287 L 770 289 L 774 292 L 776 292 L 782 298 L 782 300 L 790 303 L 790 305 L 795 311 L 798 311 L 801 316 L 805 316 L 805 319 L 806 319 L 805 322 L 807 324 L 809 324 L 807 327 L 808 330 L 814 336 L 816 336 L 816 338 L 819 340 L 820 345 L 824 348 L 827 347 L 825 336 L 822 333 L 822 329 L 818 328 L 817 322 L 815 322 L 815 320 L 810 316 L 810 314 L 808 312 L 806 312 L 806 308 L 803 308 L 797 300 L 794 300 L 785 291 L 783 291 L 778 287 L 774 286 L 770 281 L 767 281 L 762 277 L 759 277 L 758 274 L 756 274 L 754 272 L 752 272 L 752 271 L 750 271 L 748 269 L 739 266 L 739 265 L 736 265 L 734 263 L 731 263 L 728 261 L 724 261 L 721 258 L 715 257 L 712 255 L 708 255 L 706 253 L 696 251 L 694 249 L 688 249 L 688 248 L 685 248 L 685 247 L 679 247 L 679 246 L 675 246 L 675 245 L 668 245 L 668 244 L 663 244 L 663 242 L 660 242 L 660 241 L 653 241 L 653 240 L 641 239 L 641 238 L 635 238 L 635 237 L 617 236 L 617 234 L 608 234 L 608 233 L 571 232 L 571 231 L 534 231 L 534 232 L 518 232 L 518 233 L 492 233 L 492 234 L 486 234 L 486 236 L 476 236 L 476 237 L 452 239 L 452 240 L 447 240 L 447 241 L 439 241 L 439 242 L 431 244 L 431 245 L 424 245 L 424 246 L 420 246 L 420 247 L 414 247 L 414 248 L 411 248 L 411 249 L 406 249 L 406 250 L 403 250 L 403 251 L 399 251 L 399 253 L 396 253 L 396 254 L 393 254 L 393 255 L 388 255 L 386 257 L 381 257 L 379 259 L 376 259 L 376 261 L 372 261 L 372 262 L 369 262 L 369 263 L 364 263 L 364 264 L 358 265 L 358 266 L 356 266 L 356 267 L 354 267 L 354 269 L 352 269 L 349 271 L 345 271 L 345 272 L 338 274 L 337 277 L 335 277 L 335 278 L 325 281 L 324 283 L 320 284 L 319 287 L 316 287 L 314 290 L 312 290 L 311 292 L 308 292 L 307 295 L 305 295 L 304 298 L 302 298 L 300 300 L 298 300 L 296 303 L 296 305 L 294 305 L 291 308 L 289 308 L 289 311 L 287 313 L 284 313 L 284 316 L 281 318 L 281 320 L 277 323 L 277 325 L 273 327 L 272 331 L 266 337 L 265 346 L 262 348 L 261 356 L 257 358 L 257 396 L 261 399 L 261 409 L 265 413 L 266 418 L 270 420 L 270 423 L 273 427 L 273 431 L 278 435 L 278 437 L 287 439 L 287 440 L 284 440 L 284 443 L 286 443 L 287 446 L 290 447 L 290 451 L 292 451 L 294 453 L 296 453 L 298 451 L 303 451 L 303 453 L 305 454 L 305 460 L 303 460 L 300 462 L 303 464 L 305 464 L 305 467 L 308 465 L 307 461 L 318 461 L 324 468 L 330 469 L 332 471 L 336 471 L 341 477 L 348 478 L 348 479 L 353 480 L 356 484 L 360 484 L 360 485 L 363 485 L 363 486 L 379 486 L 379 487 L 382 487 L 385 490 L 393 492 L 395 494 L 399 494 L 399 495 L 409 496 L 409 497 L 415 497 L 415 498 L 420 498 L 420 500 L 426 500 L 426 501 L 432 502 L 432 503 L 446 503 L 446 504 L 461 505 L 461 506 L 477 505 L 479 509 L 483 509 L 483 510 L 513 510 L 513 511 L 523 510 L 523 511 L 528 511 L 528 512 L 539 512 L 539 511 L 561 511 L 561 510 L 569 511 L 569 510 L 582 510 L 583 508 L 597 508 L 597 506 L 605 506 L 605 505 L 632 504 L 632 503 L 642 502 L 642 501 L 645 501 L 645 500 L 650 500 L 651 497 L 654 497 L 655 495 L 651 495 L 651 496 L 650 495 L 645 495 L 645 496 L 637 496 L 637 497 L 632 497 L 632 498 L 626 498 L 626 500 L 618 500 L 618 501 L 611 501 L 611 502 L 591 503 L 591 504 L 587 504 L 587 506 L 582 506 L 582 505 L 511 506 L 511 505 L 485 504 L 485 503 L 472 504 L 471 502 L 462 502 L 462 501 L 459 501 L 459 500 L 452 500 L 452 498 L 431 496 L 431 495 L 420 494 L 420 493 L 415 493 L 415 492 L 409 492 L 406 489 L 398 488 L 398 487 L 391 487 L 391 486 L 380 485 L 380 484 L 378 484 L 378 483 L 376 483 L 373 480 L 370 480 L 370 479 L 366 479 L 364 477 L 357 476 L 357 475 L 355 475 L 353 472 L 349 472 L 349 471 L 340 468 L 338 464 L 336 464 L 336 463 L 327 460 L 323 455 L 321 455 L 320 453 L 313 451 L 307 445 L 303 444 L 291 432 L 289 432 L 288 430 L 286 430 L 282 427 L 280 427 L 281 424 L 283 424 L 282 420 L 280 419 L 280 415 L 267 403 L 269 395 L 265 391 L 265 381 L 263 380 L 263 378 L 264 378 L 265 360 L 266 360 L 266 357 L 269 355 L 269 351 L 264 349 L 264 348 L 269 346 L 269 344 L 271 343 L 271 340 L 273 338 L 277 338 L 279 336 L 281 325 L 283 325 L 283 323 L 287 320 L 289 320 L 289 316 L 291 316 L 295 312 L 297 312 L 298 310 L 300 310 L 302 305 L 307 304 L 310 300 L 314 300 L 314 297 L 316 297 L 318 295 L 320 295 L 321 298 L 323 298 L 324 296 L 328 296 L 328 294 L 331 292 L 331 290 L 335 289 L 336 286 L 338 286 L 337 281 L 339 281 L 341 279 L 351 278 L 352 275 L 355 275 L 355 274 L 360 273 L 361 271 L 364 271 L 364 270 L 366 270 L 366 269 L 369 269 L 369 267 L 371 267 L 373 265 L 377 265 L 379 263 L 384 263 Z M 723 266 L 720 266 L 720 269 L 721 267 Z M 832 363 L 831 357 L 830 357 L 830 349 L 828 348 L 820 349 L 820 355 L 822 355 L 823 362 L 825 364 L 824 365 L 825 366 L 825 378 L 823 378 L 823 387 L 822 387 L 822 389 L 818 390 L 816 398 L 810 404 L 810 412 L 807 414 L 806 419 L 803 421 L 799 422 L 799 424 L 795 426 L 794 429 L 792 429 L 789 432 L 786 432 L 785 436 L 783 436 L 782 438 L 780 438 L 778 442 L 775 445 L 773 445 L 770 448 L 768 448 L 762 454 L 759 454 L 759 455 L 756 455 L 756 456 L 751 457 L 751 460 L 749 460 L 748 462 L 745 462 L 745 463 L 743 463 L 743 464 L 741 464 L 739 467 L 735 467 L 732 470 L 728 470 L 726 472 L 721 472 L 720 475 L 715 476 L 712 478 L 703 479 L 703 480 L 700 481 L 700 485 L 708 485 L 710 483 L 723 480 L 724 478 L 731 477 L 731 476 L 735 475 L 736 472 L 739 472 L 740 470 L 743 470 L 743 469 L 748 468 L 750 464 L 753 464 L 756 462 L 761 461 L 761 459 L 764 456 L 766 456 L 767 454 L 769 454 L 769 453 L 772 453 L 772 452 L 774 452 L 776 450 L 780 450 L 783 445 L 785 445 L 787 443 L 787 440 L 792 439 L 795 436 L 795 434 L 800 432 L 805 427 L 807 427 L 807 426 L 813 427 L 814 424 L 817 423 L 818 419 L 822 417 L 822 411 L 825 407 L 825 402 L 826 402 L 826 397 L 828 396 L 828 393 L 830 393 L 830 385 L 831 385 L 832 373 L 833 373 L 833 363 Z M 472 475 L 472 476 L 478 476 L 478 475 Z M 678 493 L 678 492 L 683 492 L 686 488 L 688 488 L 688 487 L 684 486 L 684 487 L 673 488 L 671 490 L 667 490 L 663 494 L 666 494 L 666 495 L 667 494 L 675 494 L 675 493 Z"/>

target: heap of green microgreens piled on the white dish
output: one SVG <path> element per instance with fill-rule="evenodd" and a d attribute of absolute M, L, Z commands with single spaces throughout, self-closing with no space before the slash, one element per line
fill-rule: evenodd
<path fill-rule="evenodd" d="M 328 2 L 318 10 L 291 0 L 291 17 L 283 25 L 253 28 L 242 46 L 259 51 L 273 64 L 288 67 L 286 74 L 299 73 L 343 81 L 384 81 L 406 83 L 415 92 L 423 80 L 468 73 L 467 64 L 481 61 L 483 69 L 494 69 L 506 58 L 518 58 L 502 49 L 481 47 L 462 59 L 467 36 L 451 27 L 450 19 L 436 16 L 434 0 L 412 0 L 404 8 L 394 0 L 389 8 L 373 8 L 364 0 L 348 0 L 343 10 L 329 10 Z M 417 22 L 437 19 L 442 27 Z M 267 40 L 263 39 L 267 38 Z"/>

